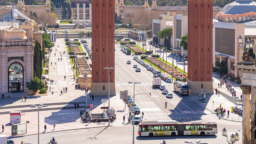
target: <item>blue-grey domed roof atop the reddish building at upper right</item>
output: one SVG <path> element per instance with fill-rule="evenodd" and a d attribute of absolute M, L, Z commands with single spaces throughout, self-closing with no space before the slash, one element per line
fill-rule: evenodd
<path fill-rule="evenodd" d="M 246 12 L 256 12 L 256 2 L 252 0 L 236 0 L 227 4 L 221 12 L 223 14 L 243 14 Z"/>

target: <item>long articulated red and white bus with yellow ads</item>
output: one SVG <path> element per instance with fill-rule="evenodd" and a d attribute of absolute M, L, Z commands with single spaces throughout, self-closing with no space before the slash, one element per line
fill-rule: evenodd
<path fill-rule="evenodd" d="M 143 121 L 139 123 L 139 136 L 159 135 L 212 135 L 217 134 L 217 123 L 214 121 L 178 122 L 171 121 Z"/>

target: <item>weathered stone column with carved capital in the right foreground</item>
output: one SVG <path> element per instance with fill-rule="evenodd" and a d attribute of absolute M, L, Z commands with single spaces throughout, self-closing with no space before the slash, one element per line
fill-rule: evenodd
<path fill-rule="evenodd" d="M 240 85 L 244 94 L 243 120 L 242 120 L 242 144 L 250 141 L 250 94 L 251 85 Z"/>

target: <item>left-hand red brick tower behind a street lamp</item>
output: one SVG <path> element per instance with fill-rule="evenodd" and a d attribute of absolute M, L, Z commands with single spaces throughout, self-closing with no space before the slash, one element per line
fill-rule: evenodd
<path fill-rule="evenodd" d="M 115 0 L 92 0 L 92 87 L 94 95 L 115 93 Z"/>

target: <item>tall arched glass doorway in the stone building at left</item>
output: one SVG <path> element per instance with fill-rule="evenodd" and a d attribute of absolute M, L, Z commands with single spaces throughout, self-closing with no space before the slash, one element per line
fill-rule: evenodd
<path fill-rule="evenodd" d="M 19 62 L 14 62 L 8 69 L 8 90 L 10 92 L 23 92 L 23 66 Z"/>

